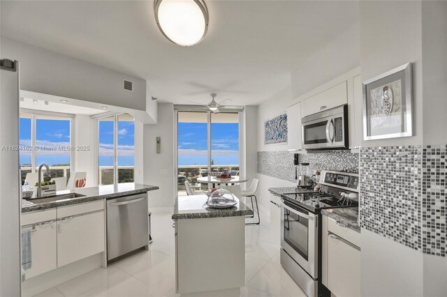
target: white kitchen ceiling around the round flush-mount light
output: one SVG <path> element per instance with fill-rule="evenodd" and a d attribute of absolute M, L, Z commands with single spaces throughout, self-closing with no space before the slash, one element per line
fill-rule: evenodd
<path fill-rule="evenodd" d="M 358 22 L 356 1 L 206 1 L 205 39 L 162 36 L 153 1 L 1 1 L 1 35 L 147 79 L 160 101 L 256 105 Z"/>

